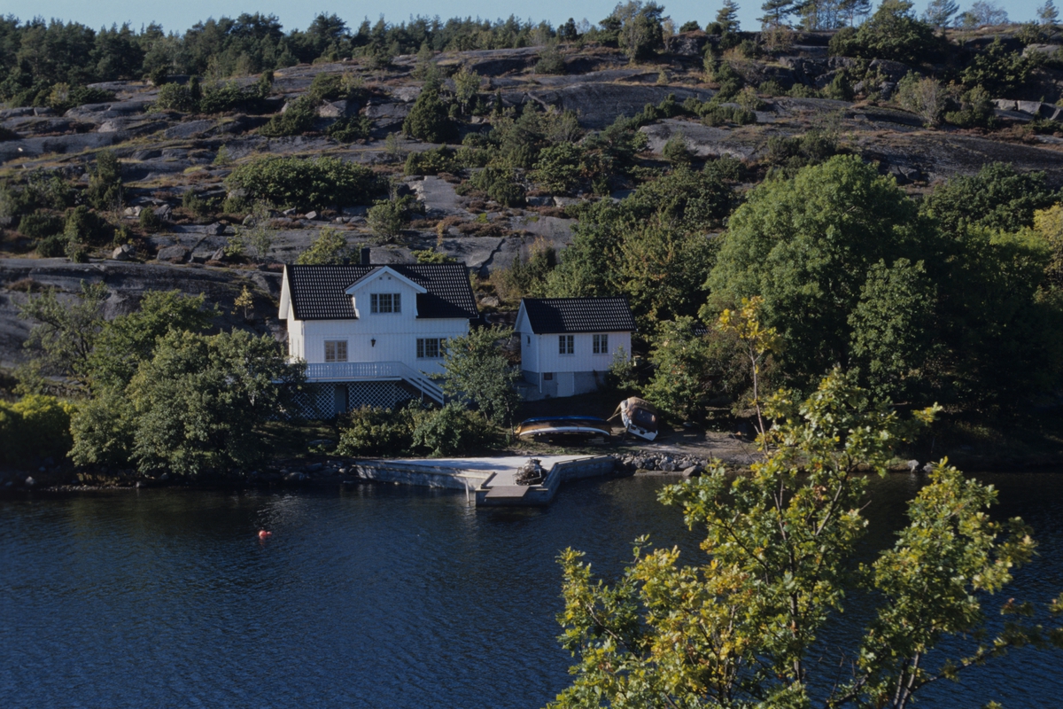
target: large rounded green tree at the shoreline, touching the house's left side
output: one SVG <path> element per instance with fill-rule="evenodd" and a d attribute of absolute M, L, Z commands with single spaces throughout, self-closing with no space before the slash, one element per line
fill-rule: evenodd
<path fill-rule="evenodd" d="M 282 410 L 285 387 L 302 381 L 269 336 L 170 331 L 128 388 L 141 473 L 247 471 L 268 454 L 261 427 Z"/>

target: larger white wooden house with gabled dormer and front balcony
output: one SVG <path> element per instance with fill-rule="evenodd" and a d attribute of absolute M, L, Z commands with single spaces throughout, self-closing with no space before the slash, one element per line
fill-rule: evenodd
<path fill-rule="evenodd" d="M 362 259 L 368 261 L 364 253 Z M 288 356 L 318 384 L 321 416 L 412 396 L 442 401 L 445 341 L 478 318 L 463 264 L 285 266 Z"/>

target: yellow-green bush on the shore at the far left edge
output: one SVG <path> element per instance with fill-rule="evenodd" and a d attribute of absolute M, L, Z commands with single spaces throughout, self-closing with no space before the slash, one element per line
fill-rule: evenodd
<path fill-rule="evenodd" d="M 0 401 L 0 462 L 65 457 L 72 444 L 72 405 L 54 396 L 30 394 L 15 404 Z"/>

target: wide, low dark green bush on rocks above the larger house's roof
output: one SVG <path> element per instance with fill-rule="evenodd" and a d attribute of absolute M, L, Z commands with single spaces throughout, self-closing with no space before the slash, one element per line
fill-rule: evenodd
<path fill-rule="evenodd" d="M 281 207 L 366 204 L 376 189 L 372 170 L 336 157 L 259 157 L 234 169 L 226 183 Z"/>

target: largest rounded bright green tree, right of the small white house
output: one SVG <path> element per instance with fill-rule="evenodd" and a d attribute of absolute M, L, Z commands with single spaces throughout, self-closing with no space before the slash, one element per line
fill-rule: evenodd
<path fill-rule="evenodd" d="M 711 308 L 763 297 L 765 325 L 783 342 L 782 370 L 810 384 L 846 362 L 848 316 L 871 267 L 932 253 L 928 231 L 896 183 L 858 157 L 833 157 L 793 180 L 765 182 L 728 222 L 703 317 L 711 321 Z"/>

